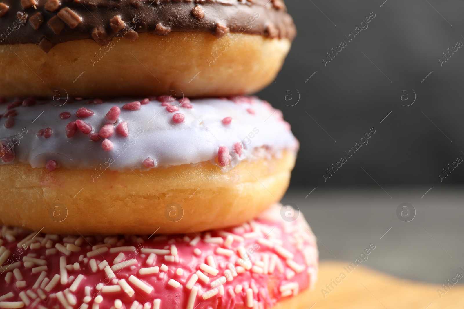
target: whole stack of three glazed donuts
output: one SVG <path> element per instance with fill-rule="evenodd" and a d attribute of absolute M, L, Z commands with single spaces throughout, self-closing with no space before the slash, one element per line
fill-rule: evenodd
<path fill-rule="evenodd" d="M 303 308 L 282 0 L 0 0 L 0 309 Z M 289 215 L 290 213 L 290 215 Z"/>

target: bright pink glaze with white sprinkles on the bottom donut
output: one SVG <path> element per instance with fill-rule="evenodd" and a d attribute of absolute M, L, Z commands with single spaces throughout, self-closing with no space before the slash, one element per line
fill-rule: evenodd
<path fill-rule="evenodd" d="M 3 227 L 0 307 L 271 308 L 314 288 L 317 257 L 303 215 L 284 221 L 279 205 L 201 234 L 84 238 Z"/>

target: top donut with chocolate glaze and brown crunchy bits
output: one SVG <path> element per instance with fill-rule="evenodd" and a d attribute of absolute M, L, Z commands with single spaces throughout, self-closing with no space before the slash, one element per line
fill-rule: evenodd
<path fill-rule="evenodd" d="M 0 95 L 250 93 L 296 34 L 282 0 L 3 0 L 0 25 Z"/>

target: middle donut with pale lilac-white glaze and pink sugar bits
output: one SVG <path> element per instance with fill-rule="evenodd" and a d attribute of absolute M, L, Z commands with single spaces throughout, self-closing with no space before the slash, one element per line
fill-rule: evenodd
<path fill-rule="evenodd" d="M 6 105 L 3 224 L 50 233 L 188 233 L 250 220 L 288 186 L 298 142 L 267 102 L 70 101 Z"/>

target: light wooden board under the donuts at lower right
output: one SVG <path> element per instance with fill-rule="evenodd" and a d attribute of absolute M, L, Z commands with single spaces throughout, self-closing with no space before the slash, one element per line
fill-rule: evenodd
<path fill-rule="evenodd" d="M 425 284 L 393 277 L 361 265 L 351 272 L 349 262 L 322 261 L 316 289 L 310 292 L 309 309 L 438 309 L 463 308 L 464 285 L 446 291 L 439 284 Z M 342 279 L 341 273 L 346 277 Z M 464 271 L 461 271 L 464 275 Z M 455 277 L 456 274 L 452 277 Z M 332 280 L 340 283 L 335 285 Z M 463 282 L 464 278 L 459 280 Z M 455 280 L 456 282 L 456 280 Z M 329 288 L 326 284 L 331 284 Z M 443 291 L 440 295 L 438 289 Z M 325 290 L 326 292 L 324 292 Z M 324 295 L 323 295 L 324 294 Z"/>

